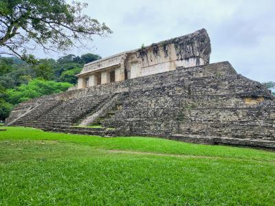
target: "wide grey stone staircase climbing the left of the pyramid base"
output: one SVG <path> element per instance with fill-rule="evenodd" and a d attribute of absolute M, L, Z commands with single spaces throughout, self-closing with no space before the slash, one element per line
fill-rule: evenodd
<path fill-rule="evenodd" d="M 75 133 L 112 137 L 115 135 L 115 128 L 78 126 L 78 122 L 80 122 L 81 119 L 85 119 L 87 115 L 94 115 L 100 111 L 101 108 L 104 108 L 104 114 L 97 113 L 100 117 L 97 117 L 96 122 L 92 125 L 98 124 L 97 122 L 100 122 L 101 124 L 102 119 L 100 118 L 103 116 L 104 118 L 107 118 L 110 117 L 111 113 L 115 113 L 115 106 L 118 105 L 116 101 L 117 98 L 117 95 L 100 95 L 67 101 L 56 100 L 52 102 L 45 102 L 37 106 L 38 109 L 34 110 L 34 112 L 30 112 L 28 115 L 17 119 L 17 121 L 12 123 L 12 125 L 31 126 L 34 128 L 41 128 L 45 131 L 53 131 L 58 133 Z M 113 101 L 115 104 L 110 104 L 110 102 Z M 107 111 L 105 111 L 106 109 Z"/>

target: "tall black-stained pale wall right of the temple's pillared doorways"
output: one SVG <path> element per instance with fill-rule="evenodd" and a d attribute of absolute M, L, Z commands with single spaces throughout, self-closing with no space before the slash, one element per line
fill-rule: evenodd
<path fill-rule="evenodd" d="M 206 30 L 172 38 L 129 53 L 125 67 L 131 78 L 175 70 L 177 67 L 207 65 L 211 52 Z"/>

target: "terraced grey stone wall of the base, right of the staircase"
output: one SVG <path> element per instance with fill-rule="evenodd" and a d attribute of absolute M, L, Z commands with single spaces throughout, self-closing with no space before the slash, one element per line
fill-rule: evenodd
<path fill-rule="evenodd" d="M 122 111 L 105 125 L 120 126 L 129 135 L 275 140 L 269 91 L 237 75 L 228 63 L 195 68 L 152 77 L 153 89 L 127 93 Z"/>

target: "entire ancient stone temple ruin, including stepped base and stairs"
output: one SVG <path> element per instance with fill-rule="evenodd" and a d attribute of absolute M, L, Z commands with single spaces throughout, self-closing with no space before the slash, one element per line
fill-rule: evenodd
<path fill-rule="evenodd" d="M 210 64 L 210 51 L 199 30 L 91 62 L 78 89 L 23 102 L 5 124 L 274 149 L 271 92 L 229 62 Z"/>

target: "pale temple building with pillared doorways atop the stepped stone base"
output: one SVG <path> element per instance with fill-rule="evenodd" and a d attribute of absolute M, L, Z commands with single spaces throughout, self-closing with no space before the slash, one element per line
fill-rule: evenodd
<path fill-rule="evenodd" d="M 198 30 L 192 34 L 90 62 L 76 75 L 77 88 L 172 71 L 177 67 L 207 65 L 210 52 L 210 38 L 206 30 Z"/>

